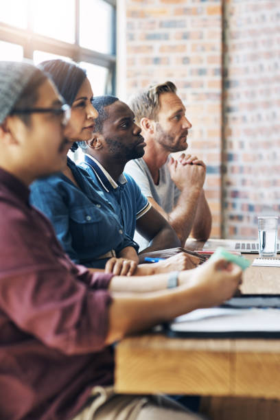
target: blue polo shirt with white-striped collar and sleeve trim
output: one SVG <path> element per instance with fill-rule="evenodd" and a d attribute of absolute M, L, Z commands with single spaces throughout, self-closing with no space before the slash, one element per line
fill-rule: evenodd
<path fill-rule="evenodd" d="M 152 207 L 135 180 L 130 175 L 121 174 L 116 183 L 101 163 L 89 154 L 84 155 L 80 166 L 91 176 L 97 192 L 114 207 L 126 234 L 133 237 L 136 220 Z"/>

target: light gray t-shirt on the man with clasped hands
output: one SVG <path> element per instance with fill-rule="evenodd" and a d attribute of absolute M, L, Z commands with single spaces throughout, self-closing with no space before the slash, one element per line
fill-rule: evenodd
<path fill-rule="evenodd" d="M 143 158 L 135 159 L 126 163 L 124 172 L 132 176 L 145 197 L 152 197 L 166 213 L 170 213 L 176 205 L 180 196 L 180 190 L 176 187 L 170 177 L 167 162 L 159 170 L 159 185 L 154 184 L 152 175 Z M 147 248 L 148 241 L 135 232 L 135 242 L 139 244 L 140 250 Z"/>

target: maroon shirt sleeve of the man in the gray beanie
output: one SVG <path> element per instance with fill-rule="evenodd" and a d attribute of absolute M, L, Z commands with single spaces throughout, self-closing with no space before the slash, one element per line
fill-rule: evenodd
<path fill-rule="evenodd" d="M 33 226 L 31 215 L 27 218 L 17 209 L 1 226 L 1 243 L 6 247 L 0 255 L 0 312 L 62 353 L 102 350 L 113 276 L 92 275 L 71 263 L 52 231 L 45 235 L 47 226 L 42 229 L 35 211 Z"/>

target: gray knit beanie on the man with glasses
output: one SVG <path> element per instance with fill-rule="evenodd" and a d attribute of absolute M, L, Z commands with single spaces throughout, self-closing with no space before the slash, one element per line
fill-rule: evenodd
<path fill-rule="evenodd" d="M 0 61 L 0 124 L 38 69 L 27 62 Z"/>

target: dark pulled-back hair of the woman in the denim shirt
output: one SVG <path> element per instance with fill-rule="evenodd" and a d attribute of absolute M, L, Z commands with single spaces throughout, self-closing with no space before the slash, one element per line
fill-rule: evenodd
<path fill-rule="evenodd" d="M 86 71 L 81 69 L 81 67 L 74 62 L 67 62 L 64 60 L 43 61 L 40 63 L 39 67 L 49 75 L 60 95 L 62 95 L 67 104 L 71 106 L 86 78 Z M 77 149 L 78 145 L 75 142 L 71 146 L 71 151 L 75 152 Z"/>

